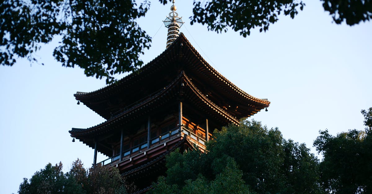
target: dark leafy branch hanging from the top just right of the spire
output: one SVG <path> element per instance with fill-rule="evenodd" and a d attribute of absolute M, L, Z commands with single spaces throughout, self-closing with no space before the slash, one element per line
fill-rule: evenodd
<path fill-rule="evenodd" d="M 194 0 L 194 15 L 191 24 L 198 22 L 208 26 L 208 30 L 217 33 L 227 32 L 231 27 L 235 32 L 246 37 L 252 28 L 260 28 L 260 32 L 268 30 L 269 25 L 278 21 L 281 13 L 294 18 L 305 3 L 300 0 L 248 0 L 248 1 L 201 1 Z"/>

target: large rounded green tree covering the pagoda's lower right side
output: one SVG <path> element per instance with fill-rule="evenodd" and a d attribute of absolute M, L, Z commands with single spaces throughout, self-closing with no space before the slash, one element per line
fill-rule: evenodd
<path fill-rule="evenodd" d="M 304 144 L 283 139 L 277 128 L 242 120 L 240 126 L 215 130 L 206 146 L 205 153 L 194 149 L 167 156 L 167 177 L 154 185 L 155 193 L 157 188 L 211 191 L 221 180 L 237 188 L 232 193 L 322 193 L 318 159 Z M 219 193 L 224 191 L 221 186 Z"/>

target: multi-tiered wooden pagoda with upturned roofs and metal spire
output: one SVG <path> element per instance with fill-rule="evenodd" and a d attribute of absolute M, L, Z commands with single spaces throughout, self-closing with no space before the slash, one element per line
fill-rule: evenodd
<path fill-rule="evenodd" d="M 94 149 L 93 165 L 113 166 L 139 188 L 165 175 L 165 156 L 176 148 L 199 148 L 214 129 L 269 107 L 211 67 L 183 33 L 182 18 L 171 6 L 164 20 L 166 50 L 138 73 L 96 91 L 74 94 L 76 100 L 106 119 L 86 129 L 72 128 L 71 137 Z M 108 159 L 97 162 L 97 152 Z"/>

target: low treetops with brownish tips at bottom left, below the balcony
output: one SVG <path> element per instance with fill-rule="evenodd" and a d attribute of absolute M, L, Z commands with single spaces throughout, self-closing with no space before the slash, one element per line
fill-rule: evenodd
<path fill-rule="evenodd" d="M 106 168 L 102 165 L 90 168 L 89 172 L 77 159 L 69 172 L 62 172 L 62 163 L 35 172 L 30 180 L 23 179 L 19 193 L 76 193 L 76 194 L 119 194 L 132 192 L 136 188 L 121 177 L 117 168 Z"/>

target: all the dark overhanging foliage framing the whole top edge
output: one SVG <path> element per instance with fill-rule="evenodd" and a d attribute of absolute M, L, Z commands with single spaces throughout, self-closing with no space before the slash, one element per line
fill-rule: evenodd
<path fill-rule="evenodd" d="M 321 1 L 336 23 L 346 21 L 354 25 L 372 16 L 371 0 Z M 253 28 L 268 30 L 280 14 L 294 18 L 305 6 L 301 0 L 217 0 L 193 4 L 191 24 L 202 23 L 218 33 L 231 28 L 244 37 Z M 145 16 L 149 7 L 148 0 L 138 4 L 135 0 L 1 1 L 0 64 L 12 66 L 18 57 L 36 61 L 35 52 L 41 44 L 59 36 L 62 41 L 53 56 L 62 66 L 77 65 L 87 76 L 106 78 L 106 83 L 111 83 L 114 74 L 143 65 L 139 56 L 150 47 L 151 38 L 137 19 Z"/>

